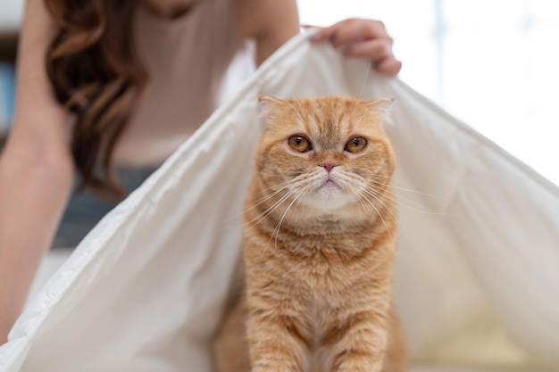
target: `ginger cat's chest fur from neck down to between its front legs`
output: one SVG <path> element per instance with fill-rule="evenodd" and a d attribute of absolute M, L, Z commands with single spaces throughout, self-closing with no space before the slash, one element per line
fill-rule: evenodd
<path fill-rule="evenodd" d="M 312 359 L 324 360 L 321 348 L 348 319 L 386 306 L 382 299 L 389 297 L 393 249 L 389 239 L 372 235 L 280 240 L 268 246 L 258 263 L 248 263 L 251 306 L 270 311 L 271 318 L 303 340 Z"/>

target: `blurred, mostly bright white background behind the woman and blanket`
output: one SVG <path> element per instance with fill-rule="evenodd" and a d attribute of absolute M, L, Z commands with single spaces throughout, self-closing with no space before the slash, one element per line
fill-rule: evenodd
<path fill-rule="evenodd" d="M 298 0 L 301 22 L 383 21 L 408 85 L 559 185 L 559 2 Z M 23 0 L 0 1 L 0 133 Z M 555 46 L 554 46 L 555 45 Z"/>

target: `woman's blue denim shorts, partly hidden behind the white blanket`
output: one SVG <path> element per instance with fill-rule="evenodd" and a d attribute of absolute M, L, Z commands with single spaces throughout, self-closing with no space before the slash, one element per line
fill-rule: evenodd
<path fill-rule="evenodd" d="M 157 168 L 119 168 L 117 174 L 121 187 L 128 193 L 134 191 Z M 78 185 L 78 182 L 76 182 Z M 72 192 L 70 203 L 64 211 L 63 219 L 54 237 L 53 247 L 71 248 L 96 226 L 105 214 L 117 203 L 110 203 L 99 197 L 92 190 Z"/>

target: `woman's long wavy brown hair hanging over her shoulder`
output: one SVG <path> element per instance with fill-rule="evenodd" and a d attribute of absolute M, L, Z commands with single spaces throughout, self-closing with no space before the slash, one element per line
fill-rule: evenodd
<path fill-rule="evenodd" d="M 125 193 L 112 155 L 146 82 L 132 29 L 139 1 L 45 3 L 59 28 L 46 54 L 46 70 L 56 99 L 76 117 L 71 152 L 80 188 L 120 198 Z"/>

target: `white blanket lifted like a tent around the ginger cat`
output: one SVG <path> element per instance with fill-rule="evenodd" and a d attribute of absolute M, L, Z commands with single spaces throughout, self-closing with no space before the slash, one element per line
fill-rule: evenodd
<path fill-rule="evenodd" d="M 395 296 L 414 360 L 559 368 L 559 189 L 367 70 L 305 36 L 284 45 L 79 244 L 0 347 L 0 370 L 213 370 L 260 94 L 396 98 Z"/>

